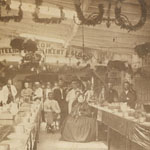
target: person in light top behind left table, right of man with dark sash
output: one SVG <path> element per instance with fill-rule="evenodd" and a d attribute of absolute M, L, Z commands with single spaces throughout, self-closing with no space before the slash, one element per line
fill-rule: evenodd
<path fill-rule="evenodd" d="M 24 89 L 21 90 L 21 98 L 23 102 L 29 103 L 32 97 L 32 89 L 29 88 L 29 83 L 25 82 L 24 83 Z"/>

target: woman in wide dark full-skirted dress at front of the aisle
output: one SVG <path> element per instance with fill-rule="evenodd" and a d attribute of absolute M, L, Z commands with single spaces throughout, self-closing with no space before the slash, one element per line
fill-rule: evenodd
<path fill-rule="evenodd" d="M 96 119 L 92 117 L 90 106 L 79 94 L 71 113 L 62 125 L 61 140 L 70 142 L 90 142 L 96 139 Z"/>

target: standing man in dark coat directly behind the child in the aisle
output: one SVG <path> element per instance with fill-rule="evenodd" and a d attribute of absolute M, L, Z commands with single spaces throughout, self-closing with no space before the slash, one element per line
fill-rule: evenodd
<path fill-rule="evenodd" d="M 66 89 L 64 88 L 64 81 L 59 80 L 58 87 L 54 88 L 54 99 L 58 102 L 60 109 L 61 109 L 61 119 L 60 124 L 65 119 L 66 115 L 68 114 L 67 102 L 66 102 Z"/>

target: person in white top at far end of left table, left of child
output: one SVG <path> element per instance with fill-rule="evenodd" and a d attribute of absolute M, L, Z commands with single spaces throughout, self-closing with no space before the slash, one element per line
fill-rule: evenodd
<path fill-rule="evenodd" d="M 40 87 L 39 82 L 35 82 L 32 100 L 33 101 L 42 100 L 42 98 L 43 98 L 43 89 Z"/>

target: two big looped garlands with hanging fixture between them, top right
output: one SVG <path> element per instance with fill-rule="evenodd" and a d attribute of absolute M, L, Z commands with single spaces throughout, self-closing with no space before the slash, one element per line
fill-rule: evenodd
<path fill-rule="evenodd" d="M 115 18 L 111 18 L 111 7 L 112 7 L 112 0 L 109 0 L 108 2 L 108 9 L 107 9 L 107 17 L 103 17 L 104 14 L 104 8 L 102 4 L 98 5 L 99 12 L 98 13 L 91 13 L 87 18 L 84 17 L 83 11 L 81 10 L 81 2 L 78 0 L 75 2 L 75 9 L 77 12 L 78 19 L 81 21 L 80 23 L 77 23 L 74 17 L 74 22 L 78 25 L 84 24 L 84 25 L 97 25 L 101 24 L 102 21 L 106 22 L 107 28 L 111 26 L 111 22 L 114 22 L 116 25 L 120 26 L 122 29 L 126 29 L 128 31 L 136 31 L 140 29 L 146 22 L 147 17 L 147 8 L 146 3 L 144 0 L 138 0 L 140 7 L 141 7 L 141 17 L 137 24 L 133 25 L 127 16 L 122 14 L 121 11 L 121 4 L 125 0 L 117 0 L 115 3 Z"/>

